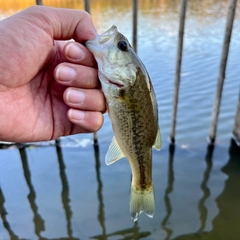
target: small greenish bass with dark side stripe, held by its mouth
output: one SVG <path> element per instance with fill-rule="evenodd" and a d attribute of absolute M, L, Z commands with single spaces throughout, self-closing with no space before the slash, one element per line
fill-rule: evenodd
<path fill-rule="evenodd" d="M 149 74 L 116 26 L 86 41 L 98 65 L 114 137 L 105 156 L 110 165 L 126 157 L 132 171 L 130 215 L 153 217 L 152 147 L 161 149 L 158 104 Z"/>

